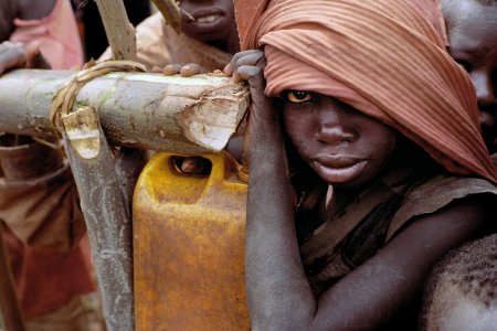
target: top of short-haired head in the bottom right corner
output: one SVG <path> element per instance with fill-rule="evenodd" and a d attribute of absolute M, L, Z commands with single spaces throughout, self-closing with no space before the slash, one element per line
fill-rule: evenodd
<path fill-rule="evenodd" d="M 454 250 L 434 268 L 423 324 L 438 331 L 497 329 L 497 235 Z"/>

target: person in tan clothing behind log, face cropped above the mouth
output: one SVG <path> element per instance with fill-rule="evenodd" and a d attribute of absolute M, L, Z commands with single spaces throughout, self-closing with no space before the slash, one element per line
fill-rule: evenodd
<path fill-rule="evenodd" d="M 179 7 L 183 11 L 180 34 L 167 25 L 160 12 L 138 24 L 138 61 L 149 70 L 190 63 L 207 72 L 223 68 L 240 50 L 233 0 L 186 0 Z M 101 60 L 110 57 L 107 50 Z"/>

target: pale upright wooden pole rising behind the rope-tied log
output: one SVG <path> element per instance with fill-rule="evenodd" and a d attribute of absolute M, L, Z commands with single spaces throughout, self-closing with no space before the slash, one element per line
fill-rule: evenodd
<path fill-rule="evenodd" d="M 123 0 L 95 0 L 114 60 L 137 60 L 135 28 Z"/>

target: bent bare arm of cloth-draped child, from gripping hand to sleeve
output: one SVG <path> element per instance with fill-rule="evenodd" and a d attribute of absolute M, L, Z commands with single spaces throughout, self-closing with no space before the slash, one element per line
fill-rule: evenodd
<path fill-rule="evenodd" d="M 485 223 L 484 202 L 456 201 L 420 217 L 316 301 L 302 266 L 276 111 L 263 95 L 261 52 L 236 55 L 226 73 L 248 82 L 246 289 L 254 330 L 367 330 L 420 290 L 432 265 Z M 488 214 L 488 213 L 487 213 Z"/>

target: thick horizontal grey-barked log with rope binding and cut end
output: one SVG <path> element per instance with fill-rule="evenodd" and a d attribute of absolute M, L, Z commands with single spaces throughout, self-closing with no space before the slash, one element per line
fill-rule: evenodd
<path fill-rule="evenodd" d="M 74 72 L 18 70 L 0 78 L 0 131 L 53 135 L 52 99 Z M 88 82 L 73 110 L 91 106 L 114 143 L 190 154 L 220 151 L 248 107 L 248 89 L 226 77 L 112 73 Z"/>

